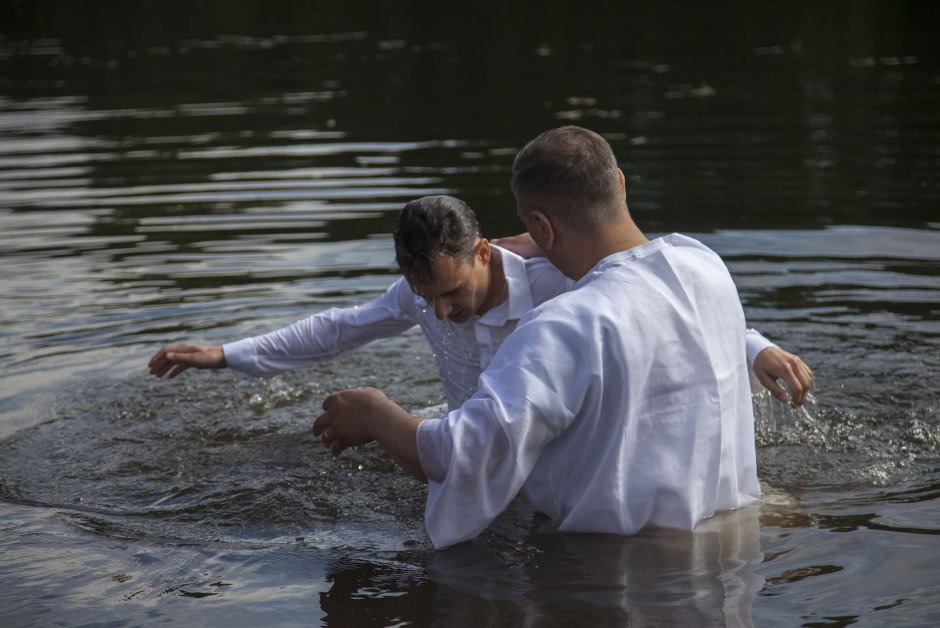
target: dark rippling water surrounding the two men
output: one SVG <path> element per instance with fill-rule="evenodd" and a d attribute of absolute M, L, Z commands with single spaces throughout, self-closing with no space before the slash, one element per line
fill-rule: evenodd
<path fill-rule="evenodd" d="M 0 623 L 940 624 L 933 4 L 321 5 L 0 6 Z M 515 151 L 567 122 L 816 372 L 755 399 L 760 507 L 621 538 L 519 501 L 435 552 L 420 484 L 308 432 L 343 387 L 440 403 L 418 333 L 146 376 L 379 294 L 412 198 L 518 232 Z"/>

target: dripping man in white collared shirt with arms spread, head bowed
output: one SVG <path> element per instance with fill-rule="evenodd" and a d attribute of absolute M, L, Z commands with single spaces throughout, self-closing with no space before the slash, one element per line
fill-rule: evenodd
<path fill-rule="evenodd" d="M 151 358 L 150 372 L 157 376 L 169 373 L 172 379 L 190 367 L 229 367 L 246 376 L 270 376 L 418 325 L 437 361 L 447 405 L 455 409 L 476 391 L 480 373 L 519 318 L 574 284 L 545 257 L 538 256 L 530 242 L 508 239 L 536 253 L 527 259 L 491 246 L 481 237 L 473 210 L 452 196 L 428 196 L 405 205 L 394 238 L 396 256 L 406 264 L 428 238 L 434 240 L 435 247 L 451 251 L 445 256 L 449 259 L 435 260 L 435 270 L 443 275 L 438 290 L 442 294 L 434 295 L 431 303 L 412 290 L 409 281 L 414 277 L 401 277 L 368 303 L 330 308 L 263 335 L 221 346 L 169 345 Z M 462 263 L 448 264 L 452 260 Z M 412 264 L 410 273 L 419 274 L 420 267 Z M 462 289 L 457 294 L 444 296 L 459 286 Z M 748 364 L 753 365 L 755 378 L 768 387 L 777 386 L 777 377 L 789 381 L 785 367 L 797 360 L 796 356 L 754 330 L 748 330 L 747 337 Z M 790 384 L 791 389 L 797 385 Z M 800 401 L 797 395 L 794 399 Z"/>

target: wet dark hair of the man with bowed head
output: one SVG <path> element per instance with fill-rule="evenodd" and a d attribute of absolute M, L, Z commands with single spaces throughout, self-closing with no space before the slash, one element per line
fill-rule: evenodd
<path fill-rule="evenodd" d="M 412 284 L 428 284 L 437 255 L 473 259 L 480 225 L 470 206 L 459 198 L 424 196 L 402 208 L 392 233 L 395 261 L 402 274 Z"/>

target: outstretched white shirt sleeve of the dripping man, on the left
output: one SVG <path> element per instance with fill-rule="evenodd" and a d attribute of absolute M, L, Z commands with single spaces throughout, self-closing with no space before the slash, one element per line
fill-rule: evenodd
<path fill-rule="evenodd" d="M 416 322 L 413 303 L 407 282 L 399 279 L 374 301 L 331 308 L 276 331 L 227 343 L 222 350 L 228 366 L 238 373 L 273 375 L 404 332 Z"/>

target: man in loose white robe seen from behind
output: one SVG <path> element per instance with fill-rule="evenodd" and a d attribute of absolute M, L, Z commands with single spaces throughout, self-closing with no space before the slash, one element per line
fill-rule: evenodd
<path fill-rule="evenodd" d="M 328 397 L 314 434 L 335 455 L 377 440 L 426 480 L 435 547 L 479 534 L 523 488 L 549 528 L 573 532 L 692 529 L 755 502 L 744 314 L 721 259 L 677 234 L 648 241 L 586 129 L 523 148 L 513 192 L 574 288 L 523 317 L 443 419 L 360 388 Z"/>

